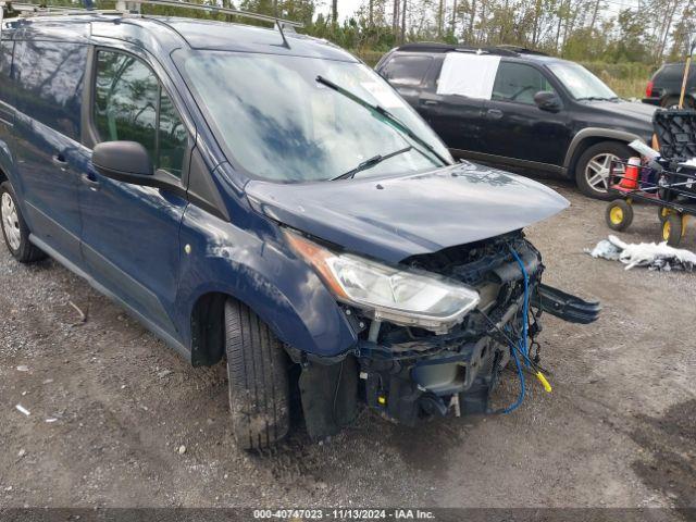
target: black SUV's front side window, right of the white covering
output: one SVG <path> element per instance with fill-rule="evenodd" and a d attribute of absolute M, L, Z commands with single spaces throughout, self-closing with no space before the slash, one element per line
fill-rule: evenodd
<path fill-rule="evenodd" d="M 500 62 L 492 99 L 533 105 L 534 95 L 540 90 L 555 92 L 542 72 L 524 63 Z"/>

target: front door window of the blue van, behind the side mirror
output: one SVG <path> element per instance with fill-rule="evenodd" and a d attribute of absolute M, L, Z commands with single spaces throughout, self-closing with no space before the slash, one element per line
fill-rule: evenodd
<path fill-rule="evenodd" d="M 121 52 L 98 52 L 94 115 L 102 141 L 137 141 L 150 153 L 156 169 L 182 176 L 186 128 L 144 62 Z"/>

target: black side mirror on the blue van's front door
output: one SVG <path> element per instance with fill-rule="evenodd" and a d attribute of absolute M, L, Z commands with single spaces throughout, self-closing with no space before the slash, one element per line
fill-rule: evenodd
<path fill-rule="evenodd" d="M 95 146 L 91 163 L 99 174 L 133 185 L 151 186 L 152 160 L 136 141 L 104 141 Z"/>

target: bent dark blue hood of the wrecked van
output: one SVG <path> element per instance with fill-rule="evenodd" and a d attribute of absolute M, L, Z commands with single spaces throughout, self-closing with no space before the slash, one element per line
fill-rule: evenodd
<path fill-rule="evenodd" d="M 251 181 L 245 190 L 279 223 L 393 263 L 517 231 L 569 204 L 539 183 L 469 162 L 402 176 Z"/>

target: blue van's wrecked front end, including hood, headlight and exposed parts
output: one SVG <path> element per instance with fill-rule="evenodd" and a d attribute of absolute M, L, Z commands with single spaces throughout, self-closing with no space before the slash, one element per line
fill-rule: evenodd
<path fill-rule="evenodd" d="M 326 184 L 294 191 L 253 183 L 250 197 L 285 225 L 288 245 L 357 333 L 356 346 L 332 358 L 287 347 L 301 366 L 313 438 L 349 424 L 361 401 L 407 425 L 492 413 L 509 364 L 549 388 L 535 341 L 543 312 L 574 323 L 598 316 L 598 303 L 542 283 L 542 256 L 522 228 L 568 203 L 535 182 L 462 163 L 333 185 L 331 207 Z"/>

